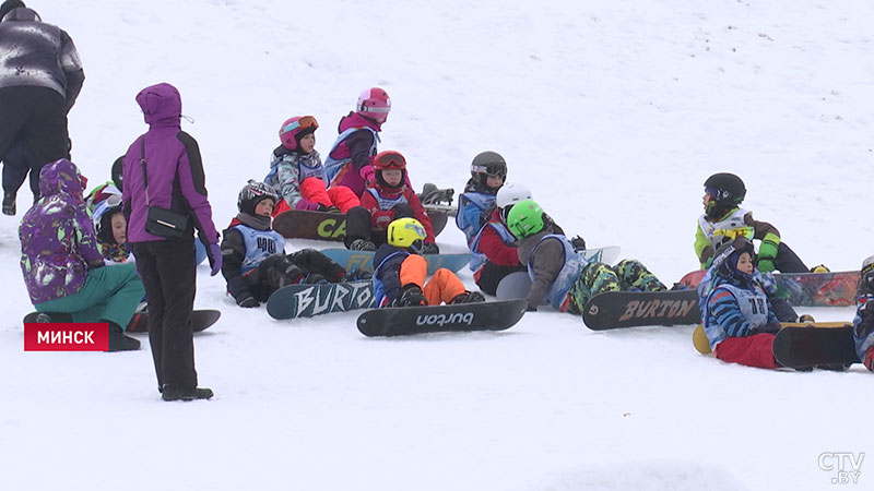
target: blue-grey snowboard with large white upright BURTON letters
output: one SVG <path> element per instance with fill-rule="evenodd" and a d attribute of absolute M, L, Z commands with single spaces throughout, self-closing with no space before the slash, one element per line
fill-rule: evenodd
<path fill-rule="evenodd" d="M 368 309 L 374 303 L 369 280 L 290 285 L 274 291 L 267 300 L 267 313 L 273 319 L 311 318 L 333 312 Z"/>

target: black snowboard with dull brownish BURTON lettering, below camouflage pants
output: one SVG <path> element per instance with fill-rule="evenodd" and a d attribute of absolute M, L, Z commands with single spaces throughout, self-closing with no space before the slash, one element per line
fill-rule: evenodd
<path fill-rule="evenodd" d="M 697 324 L 700 320 L 695 290 L 607 291 L 592 297 L 582 312 L 582 322 L 592 331 Z"/>

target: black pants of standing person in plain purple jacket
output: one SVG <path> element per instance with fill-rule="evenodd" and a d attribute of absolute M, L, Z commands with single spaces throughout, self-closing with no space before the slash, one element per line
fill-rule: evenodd
<path fill-rule="evenodd" d="M 149 302 L 149 344 L 158 387 L 197 387 L 191 311 L 194 309 L 194 243 L 155 240 L 131 243 Z"/>

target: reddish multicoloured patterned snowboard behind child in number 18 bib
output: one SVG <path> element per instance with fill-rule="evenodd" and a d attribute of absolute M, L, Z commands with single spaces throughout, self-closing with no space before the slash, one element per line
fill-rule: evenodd
<path fill-rule="evenodd" d="M 695 289 L 704 278 L 705 270 L 686 274 L 678 285 Z M 776 284 L 777 298 L 793 307 L 849 307 L 855 304 L 859 284 L 858 271 L 832 273 L 765 273 Z"/>

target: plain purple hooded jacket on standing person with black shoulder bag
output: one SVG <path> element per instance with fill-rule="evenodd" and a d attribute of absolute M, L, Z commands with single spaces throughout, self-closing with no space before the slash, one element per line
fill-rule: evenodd
<path fill-rule="evenodd" d="M 179 91 L 166 83 L 152 85 L 137 94 L 137 104 L 143 110 L 149 131 L 131 144 L 122 164 L 128 241 L 166 240 L 145 231 L 147 205 L 140 165 L 145 145 L 149 205 L 188 215 L 189 229 L 197 228 L 204 243 L 217 244 L 218 231 L 212 223 L 212 207 L 206 200 L 200 148 L 179 123 L 182 115 Z"/>

